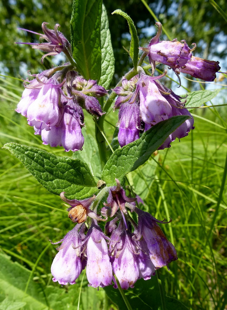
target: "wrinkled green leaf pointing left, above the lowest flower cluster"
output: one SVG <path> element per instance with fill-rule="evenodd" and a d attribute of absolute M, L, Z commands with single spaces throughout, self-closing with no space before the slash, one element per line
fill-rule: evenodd
<path fill-rule="evenodd" d="M 65 192 L 68 199 L 85 199 L 98 191 L 88 165 L 78 158 L 60 157 L 17 143 L 7 143 L 4 148 L 16 156 L 50 193 Z"/>

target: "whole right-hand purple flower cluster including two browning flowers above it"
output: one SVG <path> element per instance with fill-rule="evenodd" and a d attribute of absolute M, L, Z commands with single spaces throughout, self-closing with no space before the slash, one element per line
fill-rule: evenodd
<path fill-rule="evenodd" d="M 186 100 L 182 102 L 180 96 L 158 81 L 167 71 L 158 77 L 153 76 L 156 62 L 168 65 L 178 77 L 180 73 L 188 73 L 204 81 L 214 81 L 216 72 L 220 70 L 218 61 L 192 55 L 196 47 L 194 43 L 194 47 L 190 49 L 184 40 L 160 41 L 162 25 L 156 24 L 157 34 L 151 39 L 148 47 L 140 48 L 149 57 L 152 76 L 146 75 L 142 68 L 139 68 L 137 76 L 129 81 L 123 78 L 122 85 L 114 88 L 118 95 L 114 109 L 119 108 L 118 140 L 121 147 L 138 139 L 140 132 L 176 115 L 187 115 L 190 118 L 169 135 L 159 149 L 170 147 L 172 141 L 187 136 L 189 131 L 194 129 L 193 117 L 184 108 Z"/>

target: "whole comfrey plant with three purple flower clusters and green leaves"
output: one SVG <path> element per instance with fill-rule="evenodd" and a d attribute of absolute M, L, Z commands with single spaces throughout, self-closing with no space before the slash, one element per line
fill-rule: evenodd
<path fill-rule="evenodd" d="M 167 88 L 163 81 L 167 70 L 155 75 L 155 66 L 162 63 L 178 77 L 187 73 L 204 81 L 213 81 L 220 67 L 218 62 L 194 57 L 194 43 L 190 48 L 184 40 L 160 40 L 160 23 L 156 23 L 158 32 L 148 47 L 139 47 L 133 21 L 116 10 L 113 13 L 122 15 L 129 24 L 133 69 L 108 93 L 114 57 L 106 10 L 100 0 L 93 3 L 94 11 L 86 11 L 80 3 L 75 0 L 73 5 L 71 43 L 58 24 L 49 29 L 46 22 L 42 24 L 44 35 L 35 33 L 41 36 L 41 43 L 23 43 L 45 52 L 41 61 L 59 53 L 64 53 L 67 60 L 61 66 L 31 74 L 24 81 L 16 111 L 27 118 L 35 135 L 41 135 L 43 144 L 86 154 L 86 147 L 82 150 L 86 139 L 82 134 L 85 109 L 93 116 L 102 169 L 98 171 L 98 163 L 94 162 L 91 170 L 92 159 L 85 162 L 76 154 L 73 158 L 58 157 L 15 143 L 5 148 L 50 193 L 69 205 L 68 217 L 76 223 L 62 240 L 53 242 L 61 243 L 51 266 L 53 281 L 75 284 L 86 267 L 89 286 L 113 285 L 127 290 L 138 279 L 149 280 L 159 268 L 168 267 L 177 260 L 177 252 L 159 227 L 172 219 L 158 220 L 140 209 L 126 175 L 144 164 L 153 152 L 170 147 L 172 141 L 186 137 L 194 129 L 187 98 Z M 81 29 L 80 16 L 84 14 L 87 18 Z M 139 49 L 143 51 L 140 59 Z M 148 66 L 143 65 L 146 56 Z M 115 143 L 115 151 L 104 128 L 111 107 L 119 109 L 115 132 L 119 144 Z M 130 197 L 126 196 L 126 184 Z"/>

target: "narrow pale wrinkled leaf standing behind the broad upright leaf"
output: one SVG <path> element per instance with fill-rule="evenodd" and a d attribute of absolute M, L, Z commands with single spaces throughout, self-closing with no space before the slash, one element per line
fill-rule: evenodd
<path fill-rule="evenodd" d="M 108 16 L 104 4 L 101 17 L 101 51 L 102 64 L 99 85 L 102 85 L 107 89 L 114 74 L 114 54 L 109 30 Z"/>

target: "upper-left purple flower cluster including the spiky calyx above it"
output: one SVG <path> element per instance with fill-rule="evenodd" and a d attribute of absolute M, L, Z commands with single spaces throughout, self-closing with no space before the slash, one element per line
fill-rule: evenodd
<path fill-rule="evenodd" d="M 48 52 L 42 61 L 47 55 L 60 52 L 72 59 L 70 43 L 58 31 L 59 25 L 50 30 L 46 24 L 42 24 L 44 35 L 41 38 L 47 42 L 24 44 Z M 97 97 L 106 95 L 107 91 L 97 85 L 97 81 L 85 80 L 70 63 L 32 76 L 33 80 L 24 82 L 25 90 L 16 111 L 27 117 L 35 134 L 41 135 L 43 144 L 63 146 L 67 152 L 80 150 L 84 144 L 81 128 L 85 125 L 82 108 L 97 117 L 102 116 Z"/>

